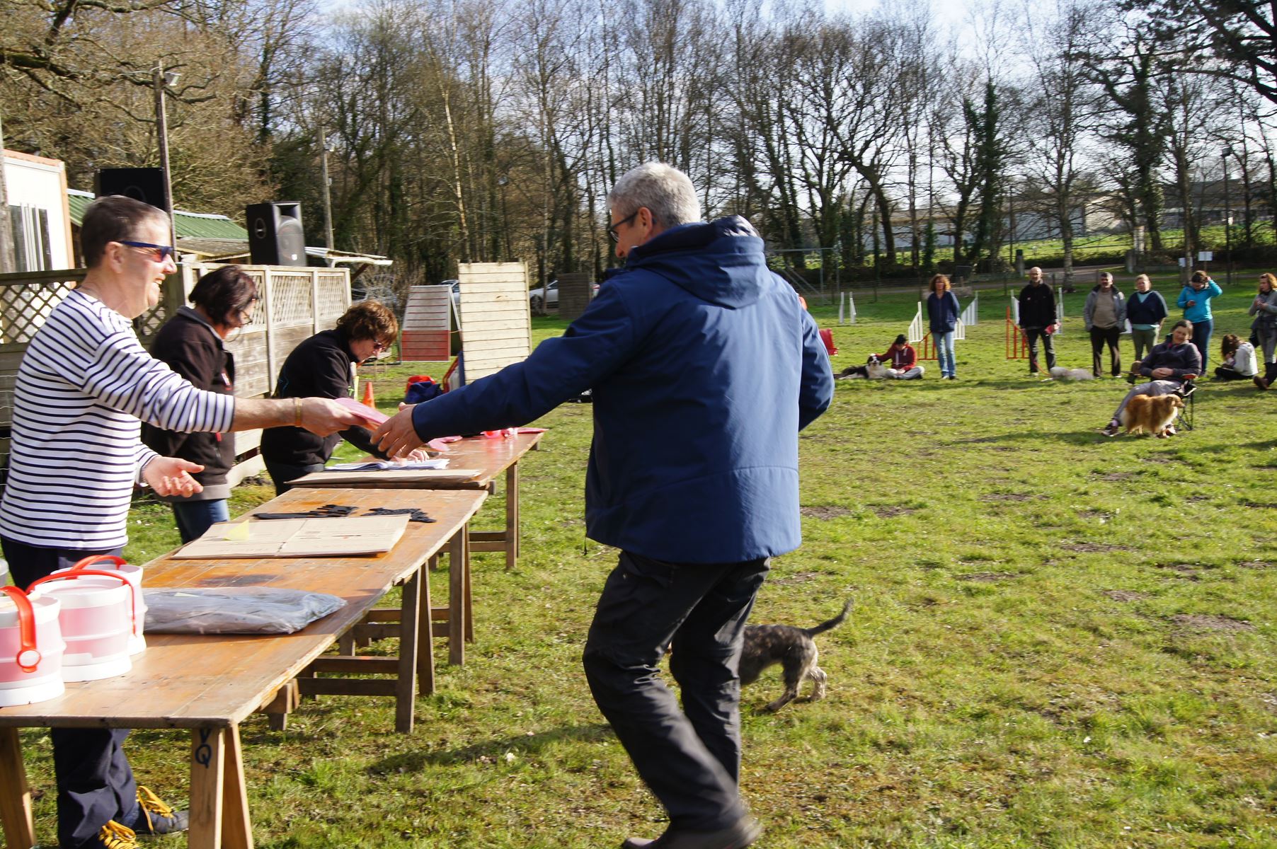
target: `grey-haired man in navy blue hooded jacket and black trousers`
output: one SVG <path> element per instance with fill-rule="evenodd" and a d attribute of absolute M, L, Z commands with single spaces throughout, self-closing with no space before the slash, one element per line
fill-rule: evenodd
<path fill-rule="evenodd" d="M 594 391 L 586 534 L 621 549 L 585 646 L 595 702 L 669 813 L 655 841 L 729 849 L 761 832 L 737 788 L 741 635 L 769 558 L 798 546 L 798 432 L 833 398 L 815 322 L 741 217 L 700 221 L 684 174 L 617 183 L 626 259 L 586 312 L 522 363 L 377 432 L 402 455 L 434 437 L 526 424 Z M 658 665 L 673 643 L 679 710 Z"/>

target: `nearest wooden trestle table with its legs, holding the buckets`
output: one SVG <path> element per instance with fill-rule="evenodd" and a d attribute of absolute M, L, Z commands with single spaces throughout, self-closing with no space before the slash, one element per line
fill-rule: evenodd
<path fill-rule="evenodd" d="M 149 587 L 303 589 L 341 596 L 346 606 L 291 635 L 148 635 L 147 650 L 124 675 L 72 683 L 63 696 L 36 705 L 0 707 L 0 820 L 6 845 L 34 845 L 19 728 L 180 728 L 192 732 L 189 845 L 250 849 L 239 724 L 255 711 L 282 719 L 299 695 L 393 696 L 396 729 L 410 732 L 418 683 L 423 695 L 434 689 L 430 636 L 447 636 L 450 650 L 464 641 L 465 532 L 485 498 L 484 492 L 292 490 L 254 512 L 322 504 L 416 507 L 437 521 L 409 522 L 398 544 L 379 555 L 234 560 L 165 555 L 148 563 L 143 583 Z M 432 608 L 424 568 L 441 553 L 450 555 L 450 599 L 447 608 Z M 395 585 L 404 587 L 398 657 L 321 656 Z M 437 629 L 435 619 L 446 622 Z M 317 677 L 323 672 L 393 679 Z"/>

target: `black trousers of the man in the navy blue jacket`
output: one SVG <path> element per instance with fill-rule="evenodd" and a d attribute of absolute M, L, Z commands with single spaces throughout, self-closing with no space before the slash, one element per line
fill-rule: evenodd
<path fill-rule="evenodd" d="M 678 564 L 622 552 L 599 597 L 584 655 L 590 692 L 672 829 L 723 829 L 746 813 L 737 664 L 767 568 L 766 558 Z M 670 643 L 682 710 L 658 670 Z"/>

